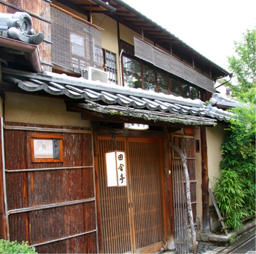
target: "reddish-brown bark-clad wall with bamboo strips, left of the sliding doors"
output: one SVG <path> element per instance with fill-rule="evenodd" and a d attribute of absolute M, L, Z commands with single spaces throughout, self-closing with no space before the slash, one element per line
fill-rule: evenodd
<path fill-rule="evenodd" d="M 63 136 L 63 162 L 32 163 L 30 137 L 34 134 Z M 65 133 L 61 130 L 5 129 L 4 139 L 6 170 L 78 167 L 15 173 L 6 171 L 10 240 L 28 241 L 30 245 L 36 245 L 38 253 L 96 253 L 96 197 L 90 131 Z"/>

